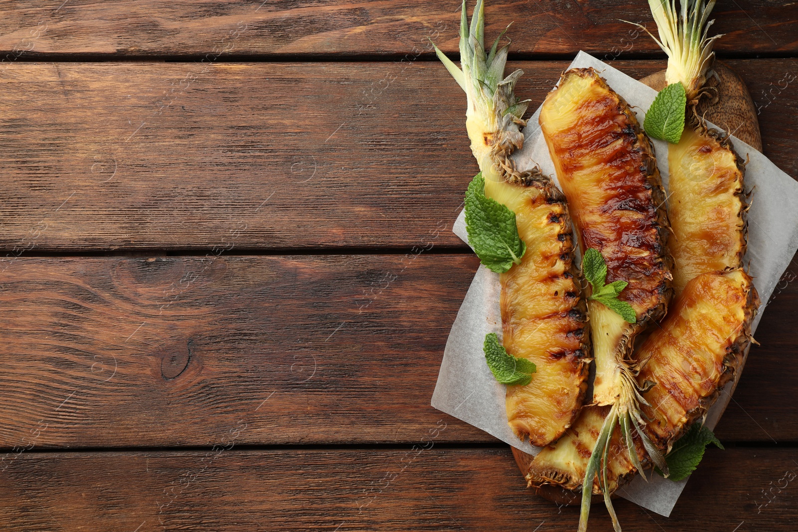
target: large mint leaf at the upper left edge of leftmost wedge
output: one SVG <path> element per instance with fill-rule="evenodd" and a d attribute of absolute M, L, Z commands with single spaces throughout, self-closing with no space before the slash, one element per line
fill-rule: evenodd
<path fill-rule="evenodd" d="M 516 213 L 485 196 L 481 171 L 465 193 L 465 225 L 468 243 L 480 261 L 497 274 L 519 264 L 527 251 L 527 245 L 518 236 Z"/>

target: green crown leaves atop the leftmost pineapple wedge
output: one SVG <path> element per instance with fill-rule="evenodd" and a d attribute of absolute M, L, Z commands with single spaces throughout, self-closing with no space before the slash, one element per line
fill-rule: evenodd
<path fill-rule="evenodd" d="M 508 26 L 509 28 L 510 26 Z M 506 130 L 509 122 L 526 125 L 521 119 L 527 111 L 530 100 L 516 101 L 513 93 L 516 81 L 523 74 L 516 70 L 508 77 L 504 77 L 504 67 L 507 65 L 507 56 L 510 45 L 499 48 L 499 41 L 507 28 L 496 37 L 491 49 L 485 53 L 484 32 L 485 14 L 483 0 L 477 0 L 468 24 L 466 17 L 466 3 L 463 0 L 460 12 L 460 65 L 458 68 L 452 60 L 440 51 L 433 43 L 435 53 L 460 88 L 463 89 L 469 100 L 474 100 L 479 108 L 492 109 L 496 112 L 497 123 L 500 130 Z"/>

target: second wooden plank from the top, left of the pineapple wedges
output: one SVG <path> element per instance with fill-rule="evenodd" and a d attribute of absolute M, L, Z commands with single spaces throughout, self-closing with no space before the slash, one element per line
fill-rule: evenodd
<path fill-rule="evenodd" d="M 728 64 L 760 111 L 764 153 L 798 175 L 791 61 Z M 617 65 L 643 77 L 663 63 Z M 517 93 L 536 107 L 565 66 L 511 64 L 527 71 Z M 450 227 L 477 171 L 464 95 L 432 62 L 15 63 L 0 90 L 10 256 L 406 249 Z M 449 231 L 436 246 L 466 249 Z"/>

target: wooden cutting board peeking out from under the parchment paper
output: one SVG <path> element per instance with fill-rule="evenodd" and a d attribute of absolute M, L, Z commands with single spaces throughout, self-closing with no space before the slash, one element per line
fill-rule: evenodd
<path fill-rule="evenodd" d="M 665 70 L 640 80 L 654 90 L 660 91 L 665 87 Z M 729 69 L 721 61 L 715 61 L 712 69 L 707 75 L 706 86 L 717 93 L 717 97 L 704 98 L 698 104 L 697 111 L 706 120 L 709 120 L 725 132 L 731 132 L 738 139 L 762 151 L 762 137 L 759 131 L 759 120 L 757 120 L 757 108 L 753 104 L 748 88 L 732 69 Z M 745 158 L 745 154 L 740 154 Z M 748 349 L 734 376 L 732 392 L 737 388 L 742 369 L 745 366 L 745 359 L 748 358 Z M 722 412 L 721 412 L 722 413 Z M 529 464 L 534 456 L 512 447 L 512 455 L 516 458 L 521 474 L 526 477 L 529 471 Z M 535 492 L 559 505 L 579 504 L 582 500 L 580 494 L 570 490 L 565 490 L 557 486 L 546 486 L 535 488 Z M 602 495 L 593 495 L 591 502 L 599 502 Z"/>

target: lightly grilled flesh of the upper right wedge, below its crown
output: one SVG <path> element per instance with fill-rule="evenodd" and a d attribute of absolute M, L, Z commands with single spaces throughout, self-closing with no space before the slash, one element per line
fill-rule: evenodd
<path fill-rule="evenodd" d="M 743 175 L 728 142 L 685 128 L 670 144 L 668 199 L 674 290 L 698 274 L 741 266 L 745 254 Z"/>

